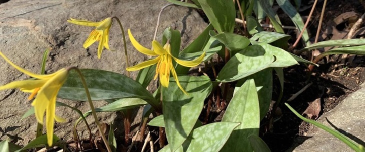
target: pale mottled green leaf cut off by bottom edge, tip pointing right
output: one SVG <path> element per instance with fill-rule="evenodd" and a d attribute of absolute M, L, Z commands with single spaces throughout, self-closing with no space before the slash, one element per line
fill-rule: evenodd
<path fill-rule="evenodd" d="M 180 151 L 219 151 L 227 141 L 232 130 L 238 126 L 237 122 L 214 122 L 193 129 L 189 137 L 179 146 Z M 160 151 L 171 151 L 167 144 Z"/>

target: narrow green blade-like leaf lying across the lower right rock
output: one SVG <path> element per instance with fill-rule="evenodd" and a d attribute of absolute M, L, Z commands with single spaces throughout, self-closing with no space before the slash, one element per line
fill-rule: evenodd
<path fill-rule="evenodd" d="M 299 117 L 300 119 L 302 119 L 305 122 L 311 123 L 323 130 L 326 130 L 328 133 L 334 135 L 336 138 L 338 138 L 339 140 L 341 140 L 343 143 L 347 144 L 351 149 L 355 150 L 355 151 L 363 151 L 362 146 L 357 144 L 356 142 L 352 141 L 351 139 L 349 139 L 347 136 L 343 135 L 341 132 L 332 129 L 328 126 L 325 126 L 319 122 L 307 119 L 303 116 L 301 116 L 298 112 L 296 112 L 289 104 L 285 103 L 285 105 L 291 110 L 291 112 L 293 112 L 297 117 Z"/>

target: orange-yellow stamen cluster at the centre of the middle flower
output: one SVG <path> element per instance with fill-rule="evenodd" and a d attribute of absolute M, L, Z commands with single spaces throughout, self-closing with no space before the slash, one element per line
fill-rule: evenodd
<path fill-rule="evenodd" d="M 172 65 L 171 57 L 162 56 L 158 74 L 159 74 L 159 82 L 163 87 L 168 87 L 168 82 L 170 80 L 170 65 Z"/>

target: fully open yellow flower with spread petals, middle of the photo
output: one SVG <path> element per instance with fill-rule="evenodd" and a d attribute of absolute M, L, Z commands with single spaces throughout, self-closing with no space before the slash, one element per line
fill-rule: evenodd
<path fill-rule="evenodd" d="M 180 60 L 177 59 L 176 57 L 171 55 L 171 46 L 170 44 L 167 42 L 163 47 L 161 46 L 161 44 L 159 44 L 156 40 L 152 41 L 152 48 L 153 50 L 150 50 L 148 48 L 143 47 L 141 44 L 139 44 L 135 38 L 133 37 L 133 35 L 130 33 L 130 30 L 128 29 L 128 35 L 129 35 L 129 39 L 132 42 L 133 46 L 135 47 L 135 49 L 137 49 L 138 51 L 140 51 L 143 54 L 146 55 L 153 55 L 153 56 L 157 56 L 154 59 L 151 60 L 147 60 L 144 62 L 141 62 L 137 65 L 131 66 L 131 67 L 127 67 L 126 70 L 128 71 L 132 71 L 132 70 L 138 70 L 150 65 L 153 65 L 155 63 L 157 63 L 157 67 L 156 67 L 156 74 L 154 76 L 154 79 L 157 78 L 157 75 L 159 75 L 159 81 L 161 83 L 161 85 L 163 87 L 168 87 L 168 81 L 170 78 L 170 71 L 172 73 L 173 78 L 175 78 L 177 86 L 185 93 L 187 94 L 187 92 L 182 88 L 180 82 L 177 79 L 177 74 L 175 71 L 175 68 L 172 65 L 172 59 L 175 60 L 178 64 L 186 66 L 186 67 L 193 67 L 196 66 L 198 64 L 200 64 L 200 62 L 203 60 L 205 52 L 203 52 L 197 59 L 195 60 Z"/>

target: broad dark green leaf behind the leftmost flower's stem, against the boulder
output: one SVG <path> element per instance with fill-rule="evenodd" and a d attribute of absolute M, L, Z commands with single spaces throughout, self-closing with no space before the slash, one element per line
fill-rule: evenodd
<path fill-rule="evenodd" d="M 110 98 L 141 98 L 151 105 L 159 103 L 140 83 L 123 74 L 99 70 L 80 69 L 85 77 L 92 100 Z M 68 74 L 67 80 L 58 91 L 57 97 L 76 101 L 86 101 L 86 93 L 81 80 L 74 70 Z"/>

